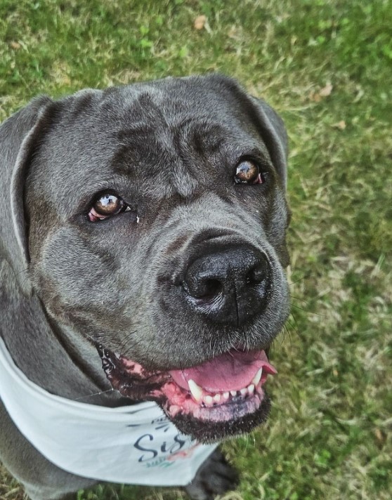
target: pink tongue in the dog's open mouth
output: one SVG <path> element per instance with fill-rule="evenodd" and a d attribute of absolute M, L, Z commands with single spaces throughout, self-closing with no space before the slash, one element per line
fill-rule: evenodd
<path fill-rule="evenodd" d="M 178 386 L 184 389 L 188 390 L 187 381 L 192 379 L 204 390 L 217 393 L 249 386 L 261 367 L 263 374 L 277 373 L 272 364 L 268 363 L 263 350 L 252 353 L 233 350 L 197 367 L 173 370 L 169 373 Z"/>

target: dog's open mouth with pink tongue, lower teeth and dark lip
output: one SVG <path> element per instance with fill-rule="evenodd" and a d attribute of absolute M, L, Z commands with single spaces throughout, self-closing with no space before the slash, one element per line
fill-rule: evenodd
<path fill-rule="evenodd" d="M 98 353 L 113 388 L 132 400 L 157 402 L 181 432 L 202 442 L 249 432 L 268 416 L 263 384 L 277 371 L 264 350 L 230 350 L 169 371 L 148 371 L 101 345 Z"/>

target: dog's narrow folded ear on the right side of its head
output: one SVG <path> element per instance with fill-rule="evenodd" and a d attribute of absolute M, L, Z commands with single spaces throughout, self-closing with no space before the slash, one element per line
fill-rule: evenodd
<path fill-rule="evenodd" d="M 289 152 L 285 124 L 280 116 L 262 99 L 250 96 L 257 118 L 257 128 L 263 138 L 277 173 L 287 186 L 287 156 Z"/>

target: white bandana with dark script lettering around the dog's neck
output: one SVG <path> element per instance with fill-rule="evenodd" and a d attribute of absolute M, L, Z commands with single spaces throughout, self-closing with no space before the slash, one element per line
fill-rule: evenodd
<path fill-rule="evenodd" d="M 155 402 L 106 408 L 48 393 L 16 367 L 1 338 L 0 397 L 46 459 L 85 478 L 184 486 L 217 446 L 181 434 Z"/>

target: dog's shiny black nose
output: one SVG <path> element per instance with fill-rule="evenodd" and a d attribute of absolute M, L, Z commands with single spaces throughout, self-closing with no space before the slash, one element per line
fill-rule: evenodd
<path fill-rule="evenodd" d="M 244 324 L 266 307 L 268 270 L 266 256 L 246 245 L 211 252 L 186 270 L 185 298 L 209 320 Z"/>

